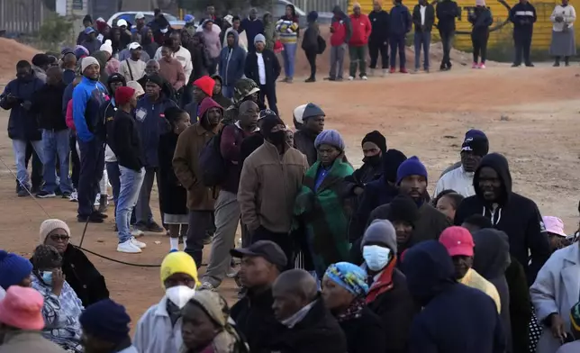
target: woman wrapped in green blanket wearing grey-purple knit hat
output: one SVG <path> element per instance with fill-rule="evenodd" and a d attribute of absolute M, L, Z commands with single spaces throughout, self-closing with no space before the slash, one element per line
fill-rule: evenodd
<path fill-rule="evenodd" d="M 329 265 L 349 261 L 349 217 L 344 208 L 343 179 L 354 171 L 344 157 L 339 131 L 322 131 L 314 141 L 318 161 L 306 175 L 295 202 L 294 234 L 319 278 Z"/>

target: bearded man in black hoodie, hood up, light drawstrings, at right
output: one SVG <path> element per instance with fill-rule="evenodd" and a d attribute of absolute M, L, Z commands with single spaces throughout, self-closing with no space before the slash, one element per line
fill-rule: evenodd
<path fill-rule="evenodd" d="M 499 153 L 482 158 L 473 184 L 476 195 L 467 197 L 459 205 L 455 224 L 462 224 L 475 213 L 490 218 L 495 229 L 508 235 L 510 253 L 526 270 L 531 285 L 550 255 L 548 233 L 538 206 L 529 198 L 512 192 L 508 161 Z"/>

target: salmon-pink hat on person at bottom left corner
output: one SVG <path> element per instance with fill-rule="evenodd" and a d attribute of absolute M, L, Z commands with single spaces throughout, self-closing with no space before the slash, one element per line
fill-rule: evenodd
<path fill-rule="evenodd" d="M 44 298 L 35 289 L 12 285 L 0 301 L 0 322 L 20 330 L 42 330 Z"/>

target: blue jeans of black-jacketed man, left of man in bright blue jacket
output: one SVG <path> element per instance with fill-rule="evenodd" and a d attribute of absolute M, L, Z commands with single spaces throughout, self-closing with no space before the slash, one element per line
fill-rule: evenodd
<path fill-rule="evenodd" d="M 57 188 L 57 156 L 59 156 L 59 186 L 62 193 L 72 193 L 73 187 L 68 176 L 70 156 L 70 133 L 68 129 L 61 131 L 42 130 L 42 149 L 44 150 L 44 186 L 42 190 L 53 193 Z"/>

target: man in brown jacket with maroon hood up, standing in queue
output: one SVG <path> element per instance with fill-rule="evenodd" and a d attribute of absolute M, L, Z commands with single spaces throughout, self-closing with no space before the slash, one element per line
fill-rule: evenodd
<path fill-rule="evenodd" d="M 200 121 L 179 135 L 173 156 L 173 170 L 177 179 L 187 189 L 189 229 L 186 253 L 199 267 L 204 251 L 205 231 L 213 227 L 213 204 L 217 190 L 204 186 L 199 154 L 207 141 L 222 129 L 223 108 L 212 98 L 205 98 L 199 110 Z"/>

